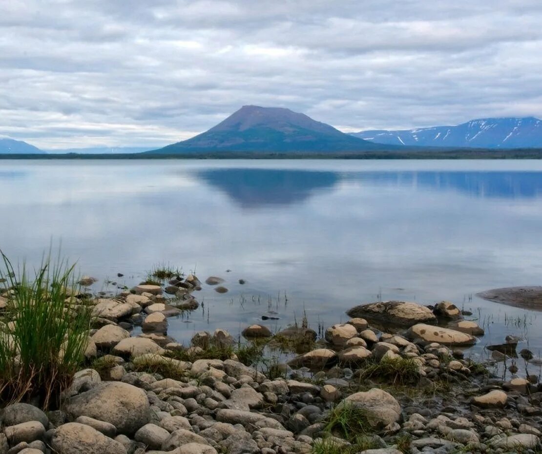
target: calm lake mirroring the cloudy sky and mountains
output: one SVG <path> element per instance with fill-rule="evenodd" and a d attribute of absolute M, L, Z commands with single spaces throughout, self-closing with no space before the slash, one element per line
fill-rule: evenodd
<path fill-rule="evenodd" d="M 486 329 L 473 355 L 506 334 L 541 353 L 540 313 L 475 294 L 540 284 L 542 161 L 3 160 L 0 190 L 0 248 L 15 261 L 61 244 L 106 291 L 158 264 L 224 278 L 228 293 L 204 284 L 203 306 L 170 319 L 179 341 L 448 300 Z M 269 309 L 280 320 L 262 322 Z"/>

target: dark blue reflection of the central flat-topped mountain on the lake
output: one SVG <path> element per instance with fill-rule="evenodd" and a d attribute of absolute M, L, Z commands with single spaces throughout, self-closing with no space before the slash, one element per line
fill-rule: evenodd
<path fill-rule="evenodd" d="M 335 172 L 262 168 L 211 169 L 199 177 L 249 208 L 302 202 L 339 181 Z"/>

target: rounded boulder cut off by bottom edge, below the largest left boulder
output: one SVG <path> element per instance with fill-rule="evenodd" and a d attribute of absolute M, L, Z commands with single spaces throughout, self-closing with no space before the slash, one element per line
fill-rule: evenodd
<path fill-rule="evenodd" d="M 54 429 L 50 446 L 58 454 L 126 454 L 121 443 L 80 423 L 63 424 Z"/>

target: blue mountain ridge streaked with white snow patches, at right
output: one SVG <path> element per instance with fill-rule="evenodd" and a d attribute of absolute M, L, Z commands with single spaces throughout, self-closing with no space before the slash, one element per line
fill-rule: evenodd
<path fill-rule="evenodd" d="M 457 126 L 373 130 L 352 133 L 378 144 L 464 148 L 542 148 L 542 121 L 526 118 L 484 118 Z"/>

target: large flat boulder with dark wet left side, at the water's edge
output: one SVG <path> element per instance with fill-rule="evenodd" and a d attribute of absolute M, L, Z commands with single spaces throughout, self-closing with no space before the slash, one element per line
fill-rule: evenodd
<path fill-rule="evenodd" d="M 436 323 L 437 320 L 429 308 L 406 301 L 362 304 L 350 309 L 347 314 L 401 327 L 410 327 L 416 323 Z"/>

